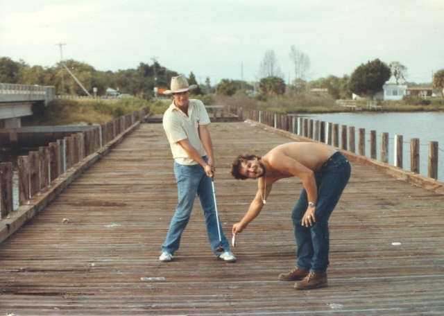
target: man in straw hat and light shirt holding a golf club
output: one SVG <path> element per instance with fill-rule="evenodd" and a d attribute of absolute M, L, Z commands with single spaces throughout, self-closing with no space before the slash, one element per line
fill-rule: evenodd
<path fill-rule="evenodd" d="M 173 254 L 179 249 L 180 237 L 187 227 L 197 194 L 214 256 L 226 262 L 234 262 L 236 258 L 230 252 L 230 245 L 219 224 L 220 220 L 216 218 L 211 179 L 216 162 L 210 131 L 207 128 L 210 118 L 200 100 L 189 99 L 189 91 L 196 88 L 197 85 L 189 86 L 185 76 L 180 75 L 171 78 L 171 90 L 164 91 L 164 94 L 173 95 L 173 103 L 164 113 L 163 126 L 175 160 L 174 174 L 179 202 L 159 260 L 171 261 Z"/>

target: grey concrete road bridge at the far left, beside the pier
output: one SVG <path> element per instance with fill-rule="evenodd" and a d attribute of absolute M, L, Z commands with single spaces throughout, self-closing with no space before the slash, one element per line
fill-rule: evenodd
<path fill-rule="evenodd" d="M 35 114 L 56 98 L 56 87 L 0 83 L 0 128 L 21 128 L 22 117 Z"/>

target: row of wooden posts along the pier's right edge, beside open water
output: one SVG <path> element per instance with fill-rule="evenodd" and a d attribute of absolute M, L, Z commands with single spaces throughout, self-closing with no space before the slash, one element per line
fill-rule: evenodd
<path fill-rule="evenodd" d="M 241 112 L 241 109 L 235 107 L 231 112 Z M 410 141 L 410 170 L 403 169 L 402 135 L 395 135 L 394 166 L 388 164 L 388 133 L 381 134 L 380 141 L 380 159 L 377 157 L 377 135 L 375 130 L 370 130 L 369 139 L 366 139 L 364 128 L 358 128 L 347 125 L 325 123 L 323 121 L 311 120 L 300 116 L 291 116 L 286 114 L 273 114 L 262 112 L 256 109 L 245 111 L 244 117 L 250 121 L 255 121 L 278 131 L 282 131 L 286 136 L 305 141 L 319 141 L 327 143 L 348 153 L 349 159 L 367 164 L 378 170 L 382 170 L 389 175 L 403 179 L 409 183 L 429 188 L 438 193 L 444 193 L 444 182 L 436 181 L 438 179 L 438 142 L 429 141 L 429 156 L 427 177 L 420 175 L 419 169 L 419 139 Z M 357 138 L 355 135 L 357 134 Z M 366 156 L 366 142 L 369 142 L 369 156 Z"/>

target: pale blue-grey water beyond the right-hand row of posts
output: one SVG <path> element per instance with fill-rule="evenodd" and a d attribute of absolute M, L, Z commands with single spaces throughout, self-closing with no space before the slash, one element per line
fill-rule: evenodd
<path fill-rule="evenodd" d="M 394 164 L 394 138 L 402 135 L 404 146 L 402 166 L 410 170 L 410 140 L 420 140 L 420 174 L 427 176 L 429 141 L 438 141 L 438 180 L 444 182 L 444 112 L 384 113 L 350 112 L 336 114 L 311 114 L 308 119 L 355 127 L 366 130 L 366 156 L 370 155 L 368 140 L 370 130 L 377 135 L 377 159 L 380 159 L 380 141 L 383 132 L 388 133 L 388 164 Z M 357 146 L 357 144 L 356 144 Z"/>

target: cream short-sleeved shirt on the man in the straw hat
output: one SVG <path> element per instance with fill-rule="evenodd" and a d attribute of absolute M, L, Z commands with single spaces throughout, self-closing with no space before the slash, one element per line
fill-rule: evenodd
<path fill-rule="evenodd" d="M 171 103 L 164 113 L 163 126 L 167 133 L 167 138 L 171 146 L 173 158 L 182 165 L 194 165 L 196 161 L 191 159 L 187 152 L 178 144 L 178 141 L 188 139 L 191 146 L 196 148 L 200 156 L 207 155 L 203 144 L 200 141 L 198 127 L 199 125 L 210 124 L 210 117 L 202 101 L 190 99 L 188 105 L 188 116 L 185 115 L 174 102 Z"/>

